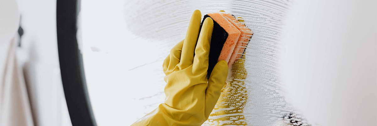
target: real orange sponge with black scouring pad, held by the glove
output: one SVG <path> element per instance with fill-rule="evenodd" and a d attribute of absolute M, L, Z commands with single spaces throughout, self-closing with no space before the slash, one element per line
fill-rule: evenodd
<path fill-rule="evenodd" d="M 218 61 L 225 60 L 229 62 L 241 32 L 219 13 L 205 15 L 202 20 L 202 25 L 207 17 L 213 19 L 213 31 L 207 70 L 207 78 L 209 78 L 210 73 Z"/>

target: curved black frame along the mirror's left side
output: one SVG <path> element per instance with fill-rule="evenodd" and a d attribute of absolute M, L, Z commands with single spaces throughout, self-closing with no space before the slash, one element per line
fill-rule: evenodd
<path fill-rule="evenodd" d="M 80 0 L 57 0 L 56 25 L 61 81 L 72 126 L 97 126 L 86 87 L 83 56 L 78 48 Z"/>

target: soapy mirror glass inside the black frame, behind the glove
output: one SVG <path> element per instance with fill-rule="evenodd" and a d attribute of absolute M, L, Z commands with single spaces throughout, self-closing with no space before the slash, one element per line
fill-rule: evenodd
<path fill-rule="evenodd" d="M 331 31 L 331 27 L 324 26 L 329 23 L 338 26 L 337 28 L 340 29 L 345 28 L 345 26 L 357 28 L 357 25 L 353 26 L 350 25 L 351 23 L 340 20 L 339 16 L 331 16 L 331 12 L 337 15 L 346 14 L 346 7 L 351 7 L 352 3 L 347 3 L 345 6 L 336 6 L 336 2 L 329 4 L 334 5 L 336 9 L 320 2 L 292 2 L 290 0 L 114 0 L 109 2 L 82 0 L 81 11 L 78 13 L 77 40 L 79 49 L 83 54 L 87 89 L 97 124 L 130 125 L 164 101 L 166 83 L 163 80 L 162 62 L 169 54 L 170 49 L 184 38 L 190 16 L 195 9 L 199 9 L 202 15 L 223 10 L 236 17 L 242 17 L 245 25 L 254 33 L 245 51 L 244 68 L 247 75 L 242 79 L 242 83 L 234 83 L 234 81 L 228 79 L 227 85 L 224 86 L 224 90 L 244 92 L 242 98 L 246 99 L 245 103 L 239 103 L 241 101 L 238 100 L 223 99 L 225 103 L 239 103 L 222 108 L 232 110 L 234 113 L 221 116 L 212 114 L 203 125 L 216 126 L 237 123 L 239 125 L 259 126 L 305 126 L 320 125 L 316 122 L 330 125 L 338 124 L 336 122 L 339 122 L 339 120 L 346 122 L 349 117 L 346 117 L 345 114 L 339 115 L 336 111 L 331 111 L 331 109 L 337 109 L 336 106 L 325 105 L 325 101 L 329 100 L 326 99 L 326 96 L 334 95 L 333 93 L 322 92 L 321 98 L 316 98 L 319 102 L 306 102 L 310 101 L 307 99 L 308 97 L 317 94 L 316 90 L 310 88 L 311 86 L 318 85 L 316 86 L 317 90 L 327 91 L 321 87 L 331 85 L 325 81 L 320 81 L 322 82 L 320 84 L 308 81 L 308 78 L 315 80 L 314 77 L 331 80 L 320 74 L 321 71 L 325 71 L 322 68 L 326 65 L 323 64 L 322 67 L 314 63 L 310 64 L 308 61 L 313 60 L 306 58 L 296 59 L 297 57 L 305 57 L 305 55 L 300 54 L 305 51 L 300 49 L 307 47 L 307 45 L 305 46 L 301 42 L 317 42 L 313 41 L 313 38 L 317 36 L 314 36 L 314 31 L 310 29 L 318 30 L 316 33 L 319 32 L 319 29 L 327 29 L 321 32 L 326 34 L 351 34 L 351 31 L 344 29 L 342 31 L 339 29 Z M 317 11 L 316 7 L 325 8 L 326 11 Z M 361 3 L 357 8 L 359 11 L 352 13 L 355 17 L 361 12 L 368 11 L 363 8 Z M 322 19 L 322 16 L 327 17 Z M 353 19 L 350 18 L 349 20 Z M 335 23 L 338 21 L 341 23 Z M 372 24 L 373 21 L 375 21 L 375 17 L 369 23 Z M 354 22 L 360 21 L 354 20 Z M 372 31 L 370 34 L 375 33 L 373 29 L 367 30 Z M 364 35 L 364 37 L 368 35 Z M 326 37 L 341 38 L 344 36 L 335 34 Z M 330 41 L 321 37 L 318 37 L 318 40 L 322 44 L 324 42 L 339 42 L 336 39 Z M 355 40 L 344 41 L 352 42 Z M 368 44 L 373 45 L 373 43 Z M 333 44 L 331 47 L 351 47 L 349 45 L 335 45 Z M 322 46 L 313 44 L 311 46 L 319 50 L 322 49 L 322 51 L 328 51 L 328 48 L 321 48 Z M 313 48 L 306 48 L 312 49 L 311 52 L 307 53 L 316 57 L 316 51 Z M 342 52 L 340 54 L 346 53 L 345 50 L 338 51 Z M 372 52 L 373 49 L 365 51 Z M 322 60 L 353 61 L 349 57 L 345 60 L 335 60 L 326 58 L 328 57 L 327 54 L 321 53 L 320 55 L 325 57 L 317 57 Z M 374 59 L 369 60 L 368 63 L 370 64 L 365 66 L 366 68 L 375 68 L 372 65 L 375 63 Z M 293 64 L 296 66 L 293 66 Z M 313 70 L 315 72 L 312 71 L 313 73 L 302 70 L 307 68 L 316 69 Z M 332 70 L 333 74 L 337 73 L 335 67 L 329 69 Z M 344 69 L 346 69 L 346 66 L 344 66 Z M 297 74 L 298 72 L 302 72 L 302 74 Z M 375 75 L 372 72 L 369 72 L 369 74 Z M 287 76 L 288 80 L 283 81 L 284 76 Z M 337 79 L 346 76 L 341 75 Z M 233 78 L 233 80 L 236 79 Z M 303 86 L 300 85 L 302 82 L 305 82 L 302 84 Z M 369 78 L 369 82 L 374 83 L 375 81 Z M 351 83 L 346 84 L 352 86 Z M 342 101 L 351 98 L 357 102 L 366 101 L 375 104 L 375 101 L 346 97 L 349 96 L 346 92 L 353 90 L 337 90 L 335 85 L 340 85 L 340 83 L 334 82 L 333 87 L 329 88 L 343 94 L 345 97 L 340 95 L 336 97 Z M 234 86 L 242 88 L 234 90 Z M 368 90 L 368 92 L 373 91 Z M 226 93 L 223 92 L 223 94 Z M 322 98 L 324 100 L 321 100 Z M 305 103 L 300 104 L 300 102 Z M 334 104 L 341 106 L 342 103 L 339 101 Z M 302 114 L 295 107 L 295 104 L 300 104 L 298 108 L 307 113 Z M 311 109 L 316 109 L 316 106 L 326 107 L 315 112 L 310 111 L 305 106 L 310 106 Z M 340 111 L 340 109 L 337 110 Z M 359 112 L 357 115 L 366 114 L 368 117 L 374 117 L 366 110 L 363 109 L 363 112 Z M 218 109 L 213 113 L 218 111 L 222 110 Z M 332 117 L 339 116 L 338 121 L 324 120 L 326 117 L 322 115 L 327 112 Z M 311 117 L 308 118 L 309 121 L 303 116 L 307 114 Z M 314 120 L 314 123 L 310 123 L 310 120 Z"/>

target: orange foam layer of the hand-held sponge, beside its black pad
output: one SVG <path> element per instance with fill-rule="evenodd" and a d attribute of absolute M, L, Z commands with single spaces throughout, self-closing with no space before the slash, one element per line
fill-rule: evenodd
<path fill-rule="evenodd" d="M 229 59 L 234 51 L 234 47 L 236 47 L 236 43 L 241 35 L 241 32 L 220 13 L 209 13 L 207 15 L 209 15 L 228 33 L 228 38 L 222 47 L 218 61 L 225 60 L 227 63 L 229 63 Z"/>

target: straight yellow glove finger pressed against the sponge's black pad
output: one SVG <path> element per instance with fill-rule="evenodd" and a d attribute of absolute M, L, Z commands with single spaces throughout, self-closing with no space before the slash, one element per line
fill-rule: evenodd
<path fill-rule="evenodd" d="M 210 17 L 205 18 L 200 31 L 198 44 L 195 48 L 195 57 L 193 63 L 193 73 L 206 76 L 208 69 L 208 55 L 210 52 L 210 41 L 213 30 L 213 20 Z"/>

